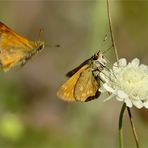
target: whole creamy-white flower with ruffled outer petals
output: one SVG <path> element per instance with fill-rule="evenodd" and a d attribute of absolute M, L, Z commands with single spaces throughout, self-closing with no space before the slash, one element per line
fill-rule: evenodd
<path fill-rule="evenodd" d="M 115 63 L 110 71 L 101 73 L 104 89 L 128 107 L 148 108 L 148 66 L 137 58 L 130 63 L 124 58 L 118 62 L 119 66 Z"/>

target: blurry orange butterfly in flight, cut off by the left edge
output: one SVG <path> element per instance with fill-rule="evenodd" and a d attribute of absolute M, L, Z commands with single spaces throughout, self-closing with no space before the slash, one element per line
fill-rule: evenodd
<path fill-rule="evenodd" d="M 43 48 L 44 42 L 29 41 L 0 22 L 0 64 L 3 71 L 16 65 L 24 65 Z"/>

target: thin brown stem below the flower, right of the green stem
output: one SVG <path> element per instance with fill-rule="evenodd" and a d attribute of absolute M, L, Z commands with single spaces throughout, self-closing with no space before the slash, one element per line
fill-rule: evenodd
<path fill-rule="evenodd" d="M 137 133 L 136 133 L 136 129 L 135 129 L 135 126 L 134 126 L 134 121 L 133 121 L 132 114 L 131 114 L 131 111 L 130 111 L 129 107 L 127 107 L 127 111 L 128 111 L 132 131 L 133 131 L 134 139 L 135 139 L 135 142 L 136 142 L 136 147 L 139 148 L 138 136 L 137 136 Z"/>

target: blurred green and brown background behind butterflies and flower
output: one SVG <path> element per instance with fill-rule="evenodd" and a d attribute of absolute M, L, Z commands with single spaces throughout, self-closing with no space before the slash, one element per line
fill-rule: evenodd
<path fill-rule="evenodd" d="M 148 1 L 112 0 L 111 15 L 119 56 L 148 64 Z M 0 21 L 29 40 L 46 42 L 21 69 L 0 72 L 0 147 L 118 147 L 121 102 L 103 102 L 105 94 L 87 103 L 66 103 L 56 96 L 66 72 L 111 45 L 106 1 L 1 0 Z M 112 50 L 105 56 L 115 61 Z M 132 113 L 146 148 L 148 111 L 132 108 Z M 123 126 L 125 147 L 135 147 L 126 112 Z"/>

